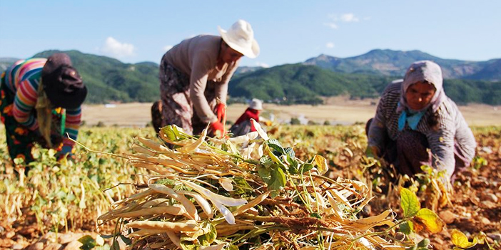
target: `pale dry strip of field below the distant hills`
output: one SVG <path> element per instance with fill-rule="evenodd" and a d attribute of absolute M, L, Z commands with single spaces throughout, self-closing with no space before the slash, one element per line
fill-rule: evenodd
<path fill-rule="evenodd" d="M 348 98 L 329 98 L 325 105 L 275 105 L 264 104 L 262 116 L 273 118 L 280 123 L 288 123 L 290 118 L 311 120 L 323 124 L 350 125 L 365 123 L 375 113 L 377 100 L 350 100 Z M 106 108 L 106 107 L 110 108 Z M 144 127 L 151 122 L 151 103 L 124 103 L 117 105 L 84 105 L 83 120 L 86 125 L 118 125 L 121 127 Z M 234 122 L 245 111 L 247 105 L 228 106 L 227 120 Z M 472 104 L 460 106 L 467 123 L 474 126 L 501 125 L 501 106 Z"/>

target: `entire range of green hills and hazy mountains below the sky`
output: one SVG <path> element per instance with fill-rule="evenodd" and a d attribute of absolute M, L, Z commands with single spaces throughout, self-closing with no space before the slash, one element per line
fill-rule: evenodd
<path fill-rule="evenodd" d="M 43 51 L 47 57 L 60 51 Z M 122 63 L 79 51 L 68 53 L 88 85 L 87 103 L 151 102 L 159 98 L 158 64 Z M 421 51 L 373 50 L 361 56 L 320 55 L 303 63 L 272 68 L 240 67 L 233 76 L 229 101 L 260 98 L 276 103 L 320 104 L 322 96 L 375 98 L 391 80 L 402 78 L 414 61 L 432 60 L 442 67 L 445 90 L 457 103 L 501 104 L 501 59 L 460 61 Z M 15 58 L 0 58 L 4 71 Z"/>

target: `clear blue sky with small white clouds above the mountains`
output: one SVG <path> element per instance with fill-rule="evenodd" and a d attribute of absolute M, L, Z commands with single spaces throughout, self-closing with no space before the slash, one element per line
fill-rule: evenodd
<path fill-rule="evenodd" d="M 243 66 L 341 58 L 375 48 L 469 61 L 501 58 L 501 1 L 0 0 L 0 57 L 76 49 L 159 63 L 170 46 L 251 23 L 261 54 Z"/>

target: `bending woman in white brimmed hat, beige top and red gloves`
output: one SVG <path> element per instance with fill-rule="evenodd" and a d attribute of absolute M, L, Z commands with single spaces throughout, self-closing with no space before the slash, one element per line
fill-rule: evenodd
<path fill-rule="evenodd" d="M 218 30 L 221 36 L 188 38 L 163 55 L 161 102 L 151 110 L 157 132 L 158 127 L 175 124 L 198 134 L 211 123 L 213 135 L 222 135 L 228 83 L 240 58 L 257 57 L 259 46 L 247 21 L 236 21 L 228 31 Z"/>

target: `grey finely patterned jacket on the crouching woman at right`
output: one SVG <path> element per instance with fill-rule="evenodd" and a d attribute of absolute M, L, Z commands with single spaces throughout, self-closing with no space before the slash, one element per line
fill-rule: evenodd
<path fill-rule="evenodd" d="M 390 140 L 396 140 L 400 135 L 398 118 L 401 112 L 397 112 L 397 107 L 400 101 L 401 85 L 401 81 L 391 83 L 384 90 L 375 118 L 370 125 L 369 146 L 376 146 L 381 150 L 388 137 Z M 434 159 L 433 167 L 439 171 L 447 170 L 447 175 L 450 177 L 455 170 L 455 142 L 459 146 L 458 150 L 470 161 L 475 156 L 477 143 L 465 118 L 450 98 L 445 98 L 437 113 L 439 117 L 437 129 L 429 125 L 433 117 L 433 111 L 430 108 L 422 116 L 416 130 L 427 138 Z M 406 124 L 404 130 L 410 130 L 410 127 Z"/>

